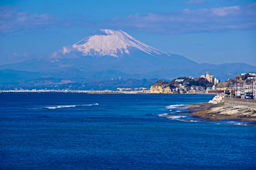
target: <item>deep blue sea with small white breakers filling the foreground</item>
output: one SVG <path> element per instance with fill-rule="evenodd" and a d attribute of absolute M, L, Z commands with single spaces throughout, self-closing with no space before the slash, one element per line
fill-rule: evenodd
<path fill-rule="evenodd" d="M 0 169 L 256 169 L 255 126 L 177 108 L 213 97 L 2 93 Z"/>

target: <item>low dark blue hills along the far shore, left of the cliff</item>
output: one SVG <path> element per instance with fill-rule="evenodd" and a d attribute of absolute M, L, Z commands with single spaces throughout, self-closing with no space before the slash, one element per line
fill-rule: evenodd
<path fill-rule="evenodd" d="M 54 89 L 54 90 L 117 90 L 117 88 L 150 88 L 151 84 L 158 79 L 128 79 L 128 80 L 102 80 L 84 83 L 72 82 L 62 78 L 38 78 L 34 80 L 24 80 L 20 82 L 0 83 L 1 90 L 14 89 Z"/>

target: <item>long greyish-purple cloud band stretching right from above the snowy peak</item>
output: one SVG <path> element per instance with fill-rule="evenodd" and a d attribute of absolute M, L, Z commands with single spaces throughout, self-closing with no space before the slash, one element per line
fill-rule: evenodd
<path fill-rule="evenodd" d="M 97 23 L 93 21 L 90 24 Z M 228 6 L 157 14 L 135 14 L 126 18 L 112 18 L 98 24 L 102 27 L 161 34 L 255 30 L 256 3 L 246 7 Z M 88 26 L 88 23 L 86 25 Z"/>

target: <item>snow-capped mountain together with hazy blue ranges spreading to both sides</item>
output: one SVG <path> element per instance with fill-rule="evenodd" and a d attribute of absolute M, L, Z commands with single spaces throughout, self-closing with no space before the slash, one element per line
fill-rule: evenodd
<path fill-rule="evenodd" d="M 236 72 L 256 72 L 255 66 L 245 63 L 198 64 L 150 47 L 124 31 L 101 31 L 56 51 L 54 58 L 0 65 L 0 84 L 12 82 L 18 86 L 30 81 L 41 86 L 111 80 L 119 76 L 124 80 L 171 80 L 180 76 L 198 77 L 206 71 L 223 81 L 234 77 Z"/>

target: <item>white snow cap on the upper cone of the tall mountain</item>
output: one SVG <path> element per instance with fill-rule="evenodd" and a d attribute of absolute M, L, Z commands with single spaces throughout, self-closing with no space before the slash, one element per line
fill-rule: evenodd
<path fill-rule="evenodd" d="M 163 51 L 138 41 L 124 31 L 112 29 L 101 29 L 100 31 L 102 31 L 103 34 L 91 35 L 72 45 L 72 47 L 81 51 L 84 56 L 108 55 L 118 57 L 125 53 L 129 54 L 132 49 L 138 49 L 150 55 L 168 55 Z M 65 50 L 66 49 L 64 49 L 64 52 Z"/>

